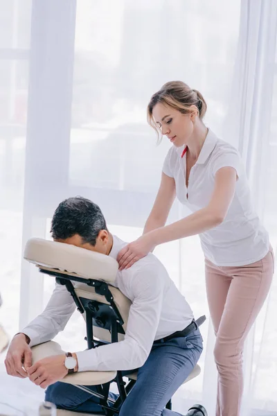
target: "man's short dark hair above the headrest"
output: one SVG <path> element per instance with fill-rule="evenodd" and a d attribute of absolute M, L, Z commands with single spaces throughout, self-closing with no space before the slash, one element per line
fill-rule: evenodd
<path fill-rule="evenodd" d="M 53 239 L 65 240 L 79 234 L 84 243 L 93 246 L 96 245 L 101 229 L 107 230 L 101 209 L 81 196 L 62 201 L 55 210 L 51 223 Z"/>

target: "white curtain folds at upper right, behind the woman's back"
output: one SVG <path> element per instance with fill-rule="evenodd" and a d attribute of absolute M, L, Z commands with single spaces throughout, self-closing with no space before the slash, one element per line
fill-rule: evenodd
<path fill-rule="evenodd" d="M 242 0 L 226 138 L 238 147 L 244 159 L 260 216 L 265 211 L 274 116 L 276 28 L 275 0 Z"/>

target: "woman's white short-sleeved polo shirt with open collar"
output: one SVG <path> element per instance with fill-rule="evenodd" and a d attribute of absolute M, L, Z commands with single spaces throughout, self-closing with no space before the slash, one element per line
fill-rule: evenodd
<path fill-rule="evenodd" d="M 244 266 L 265 257 L 269 236 L 251 205 L 251 196 L 242 159 L 233 146 L 218 139 L 211 130 L 186 187 L 184 148 L 172 146 L 163 164 L 163 173 L 174 177 L 177 198 L 191 211 L 206 207 L 215 186 L 215 173 L 225 166 L 235 168 L 238 180 L 235 195 L 223 223 L 199 234 L 205 257 L 217 266 Z"/>

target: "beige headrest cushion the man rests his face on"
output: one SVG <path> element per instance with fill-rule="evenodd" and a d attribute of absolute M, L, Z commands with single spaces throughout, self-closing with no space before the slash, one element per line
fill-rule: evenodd
<path fill-rule="evenodd" d="M 44 239 L 28 240 L 24 259 L 38 266 L 69 272 L 84 279 L 104 280 L 111 284 L 115 281 L 118 270 L 117 261 L 105 254 Z"/>

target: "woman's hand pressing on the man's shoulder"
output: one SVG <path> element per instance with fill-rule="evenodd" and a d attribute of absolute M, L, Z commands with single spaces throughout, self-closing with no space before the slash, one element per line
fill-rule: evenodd
<path fill-rule="evenodd" d="M 131 267 L 136 261 L 154 250 L 155 245 L 148 234 L 144 234 L 136 241 L 127 244 L 117 256 L 119 270 Z"/>

